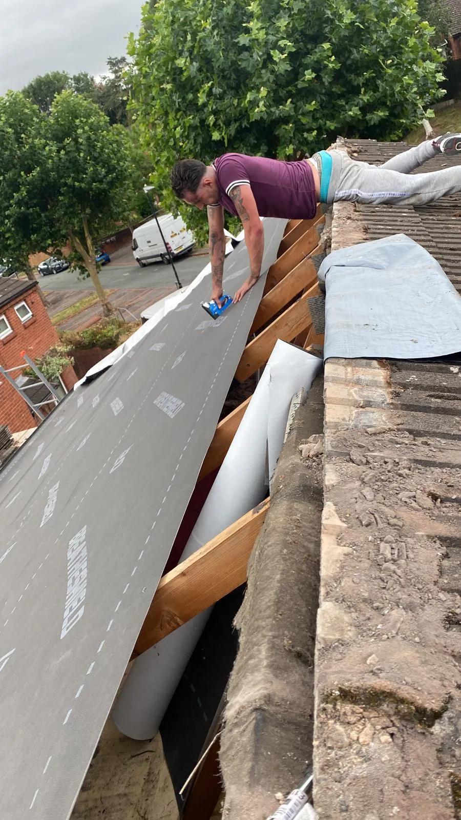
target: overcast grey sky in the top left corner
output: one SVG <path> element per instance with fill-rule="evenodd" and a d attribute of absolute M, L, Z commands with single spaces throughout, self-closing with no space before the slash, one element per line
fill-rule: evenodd
<path fill-rule="evenodd" d="M 142 0 L 0 0 L 0 94 L 47 71 L 104 74 L 138 33 Z"/>

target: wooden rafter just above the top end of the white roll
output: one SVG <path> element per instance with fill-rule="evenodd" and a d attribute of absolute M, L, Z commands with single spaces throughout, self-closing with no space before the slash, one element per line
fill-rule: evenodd
<path fill-rule="evenodd" d="M 288 307 L 279 317 L 252 339 L 240 359 L 235 371 L 235 378 L 242 382 L 266 364 L 272 353 L 277 339 L 291 342 L 305 327 L 312 325 L 312 318 L 308 308 L 308 299 L 320 293 L 317 283 L 309 288 L 293 305 Z"/>

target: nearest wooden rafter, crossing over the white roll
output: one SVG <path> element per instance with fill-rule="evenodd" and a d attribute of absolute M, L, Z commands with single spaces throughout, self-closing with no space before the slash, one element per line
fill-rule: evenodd
<path fill-rule="evenodd" d="M 269 499 L 162 577 L 135 654 L 145 652 L 246 581 L 249 555 L 268 509 Z"/>

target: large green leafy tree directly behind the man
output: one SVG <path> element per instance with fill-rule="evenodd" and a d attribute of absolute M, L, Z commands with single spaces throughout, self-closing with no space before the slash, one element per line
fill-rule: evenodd
<path fill-rule="evenodd" d="M 162 202 L 172 207 L 181 157 L 295 158 L 338 134 L 398 138 L 439 93 L 430 35 L 415 0 L 152 0 L 128 50 Z"/>

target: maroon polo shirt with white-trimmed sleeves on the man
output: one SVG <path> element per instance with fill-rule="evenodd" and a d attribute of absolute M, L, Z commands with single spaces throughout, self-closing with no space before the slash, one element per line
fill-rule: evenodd
<path fill-rule="evenodd" d="M 246 154 L 223 154 L 213 162 L 219 205 L 238 216 L 230 199 L 236 185 L 250 185 L 259 216 L 313 219 L 317 211 L 313 169 L 309 162 L 284 162 Z M 213 207 L 213 206 L 212 206 Z"/>

